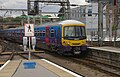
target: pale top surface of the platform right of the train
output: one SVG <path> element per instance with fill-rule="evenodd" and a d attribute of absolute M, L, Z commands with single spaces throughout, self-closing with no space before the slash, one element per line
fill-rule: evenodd
<path fill-rule="evenodd" d="M 102 51 L 107 51 L 107 52 L 114 52 L 114 53 L 120 53 L 120 48 L 116 47 L 88 47 L 90 49 L 95 49 L 95 50 L 102 50 Z"/>

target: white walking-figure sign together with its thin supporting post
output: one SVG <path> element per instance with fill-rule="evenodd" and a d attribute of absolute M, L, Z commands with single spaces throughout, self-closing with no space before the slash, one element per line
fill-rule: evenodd
<path fill-rule="evenodd" d="M 34 36 L 34 24 L 25 24 L 25 36 L 29 37 L 29 60 L 31 59 L 31 44 L 30 37 Z"/>

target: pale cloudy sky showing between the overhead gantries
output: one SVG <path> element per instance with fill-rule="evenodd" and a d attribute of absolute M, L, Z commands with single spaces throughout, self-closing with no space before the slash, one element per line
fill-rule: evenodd
<path fill-rule="evenodd" d="M 71 4 L 84 5 L 86 4 L 85 0 L 70 0 Z M 27 0 L 0 0 L 0 8 L 5 9 L 26 9 Z M 59 11 L 60 6 L 45 6 L 43 11 Z M 2 13 L 2 12 L 1 12 Z"/>

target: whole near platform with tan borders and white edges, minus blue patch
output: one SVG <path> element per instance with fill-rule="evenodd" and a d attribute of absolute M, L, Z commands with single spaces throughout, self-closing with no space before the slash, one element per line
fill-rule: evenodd
<path fill-rule="evenodd" d="M 35 68 L 25 68 L 25 62 L 35 62 Z M 0 77 L 83 77 L 48 60 L 7 61 L 0 68 Z"/>

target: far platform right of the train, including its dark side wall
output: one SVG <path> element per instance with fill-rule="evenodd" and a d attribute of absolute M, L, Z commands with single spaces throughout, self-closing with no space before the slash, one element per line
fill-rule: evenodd
<path fill-rule="evenodd" d="M 105 64 L 120 67 L 120 48 L 117 47 L 88 47 L 88 57 Z"/>

